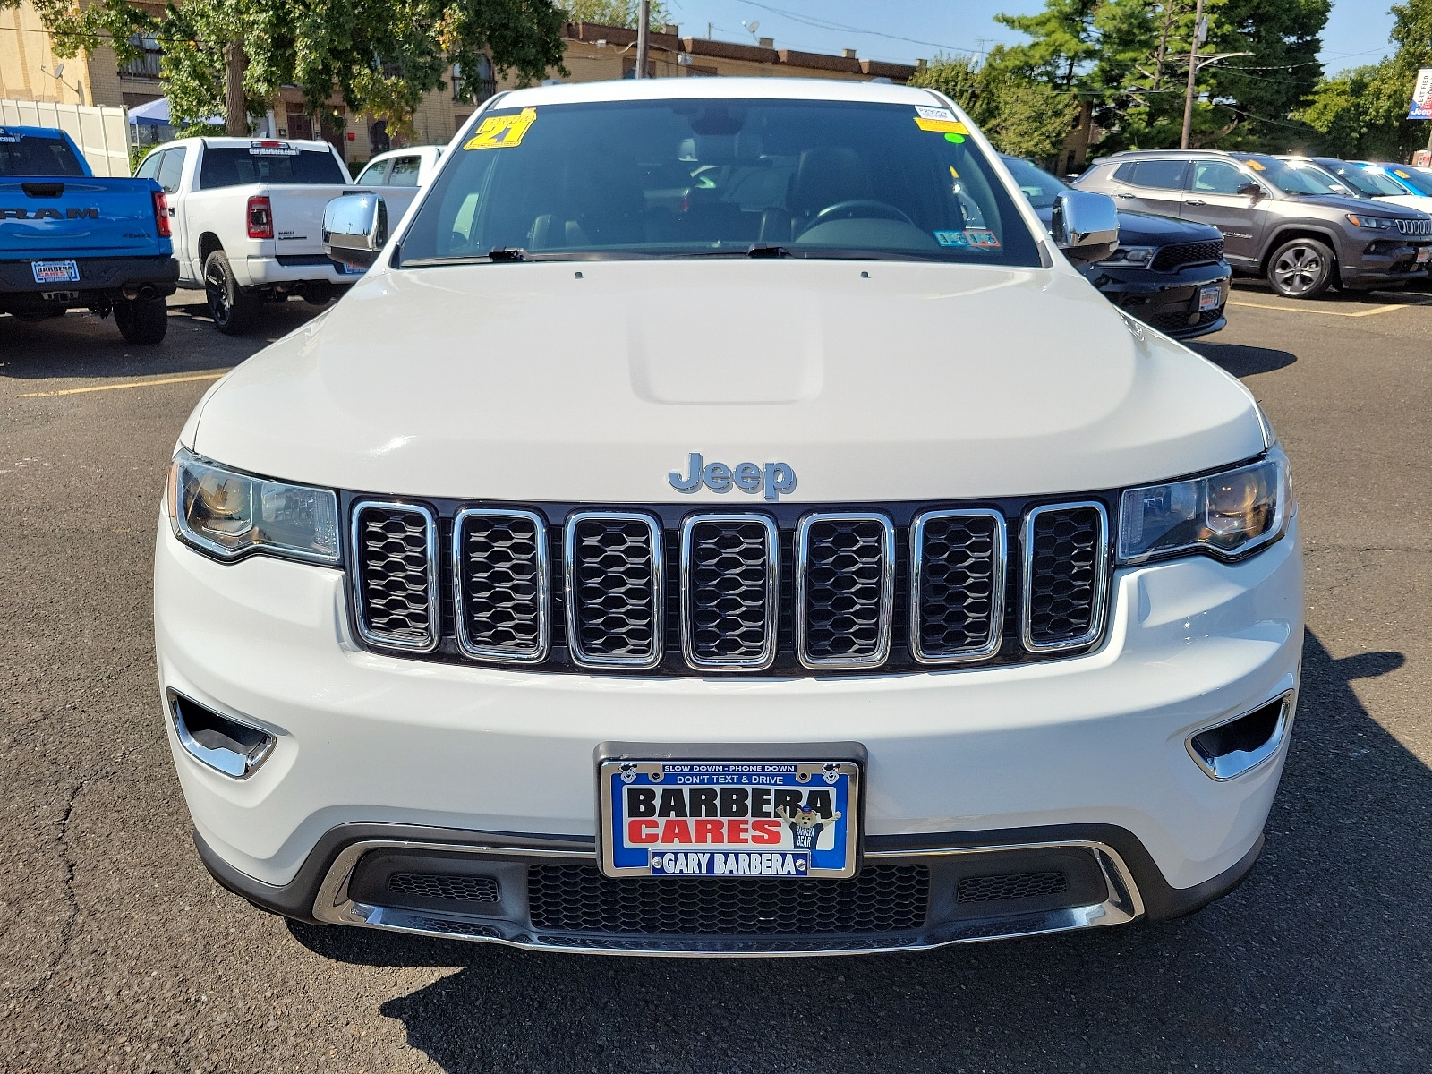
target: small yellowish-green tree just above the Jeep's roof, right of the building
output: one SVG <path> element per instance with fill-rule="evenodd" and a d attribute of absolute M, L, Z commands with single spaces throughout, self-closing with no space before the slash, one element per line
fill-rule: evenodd
<path fill-rule="evenodd" d="M 1025 77 L 1017 64 L 1005 66 L 1000 49 L 982 64 L 965 56 L 937 56 L 911 84 L 948 96 L 1002 153 L 1050 162 L 1070 132 L 1074 99 Z"/>

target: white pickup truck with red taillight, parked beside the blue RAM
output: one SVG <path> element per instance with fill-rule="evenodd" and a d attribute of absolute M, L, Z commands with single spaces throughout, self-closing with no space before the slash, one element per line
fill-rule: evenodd
<path fill-rule="evenodd" d="M 324 206 L 359 189 L 326 142 L 185 137 L 136 175 L 163 188 L 179 286 L 203 288 L 221 332 L 252 328 L 265 301 L 324 305 L 358 275 L 324 253 Z M 395 218 L 415 193 L 384 189 Z"/>

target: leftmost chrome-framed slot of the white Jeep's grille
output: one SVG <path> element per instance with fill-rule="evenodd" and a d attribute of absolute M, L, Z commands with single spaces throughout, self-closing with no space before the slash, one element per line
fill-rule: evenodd
<path fill-rule="evenodd" d="M 387 521 L 375 521 L 372 517 L 378 514 L 388 516 Z M 404 516 L 410 523 L 398 521 Z M 418 528 L 412 528 L 412 518 L 420 520 Z M 378 528 L 369 528 L 372 526 Z M 401 526 L 402 531 L 394 526 Z M 392 500 L 354 504 L 349 534 L 354 554 L 348 557 L 348 577 L 358 636 L 368 644 L 411 653 L 437 649 L 442 627 L 437 531 L 437 518 L 422 504 Z M 421 563 L 414 563 L 418 557 Z M 379 577 L 379 571 L 387 577 Z"/>

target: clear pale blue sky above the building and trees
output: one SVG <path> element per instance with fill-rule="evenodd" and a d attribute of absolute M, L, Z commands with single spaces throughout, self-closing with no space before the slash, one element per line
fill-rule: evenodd
<path fill-rule="evenodd" d="M 839 53 L 911 63 L 937 52 L 1011 44 L 1020 34 L 1000 26 L 1001 11 L 1038 11 L 1044 0 L 666 0 L 683 36 L 750 40 L 742 23 L 759 21 L 758 37 L 778 49 Z M 1375 63 L 1390 49 L 1392 0 L 1333 0 L 1323 32 L 1322 60 L 1329 72 Z M 815 24 L 812 24 L 815 23 Z M 831 29 L 849 27 L 849 29 Z M 882 36 L 884 34 L 884 36 Z"/>

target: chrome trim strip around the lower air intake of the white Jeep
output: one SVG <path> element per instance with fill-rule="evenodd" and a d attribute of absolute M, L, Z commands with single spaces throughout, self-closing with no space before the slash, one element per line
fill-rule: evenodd
<path fill-rule="evenodd" d="M 503 918 L 477 918 L 465 915 L 445 916 L 432 912 L 397 909 L 365 902 L 355 902 L 348 895 L 348 882 L 358 861 L 375 849 L 438 851 L 471 856 L 526 856 L 564 858 L 567 861 L 591 861 L 591 852 L 551 851 L 523 846 L 478 846 L 471 843 L 417 842 L 405 839 L 367 839 L 345 846 L 329 866 L 314 899 L 314 918 L 331 925 L 358 925 L 390 932 L 437 937 L 444 939 L 471 939 L 484 944 L 503 944 L 528 951 L 554 951 L 566 954 L 646 955 L 684 958 L 776 958 L 813 955 L 858 955 L 881 951 L 928 951 L 951 944 L 975 944 L 990 939 L 1011 939 L 1015 937 L 1038 937 L 1051 932 L 1070 932 L 1106 925 L 1126 925 L 1144 915 L 1144 902 L 1134 884 L 1133 874 L 1118 852 L 1094 841 L 1058 841 L 1034 843 L 1002 843 L 998 846 L 951 846 L 934 851 L 872 851 L 871 859 L 937 858 L 948 855 L 995 853 L 1008 851 L 1040 849 L 1084 849 L 1094 855 L 1108 885 L 1108 898 L 1103 902 L 1065 909 L 1041 911 L 1035 914 L 1008 915 L 987 921 L 961 921 L 937 925 L 928 932 L 902 938 L 875 935 L 868 942 L 852 942 L 849 937 L 819 938 L 772 938 L 772 939 L 725 939 L 722 937 L 652 937 L 590 938 L 560 935 L 546 937 L 540 931 L 526 928 Z"/>

